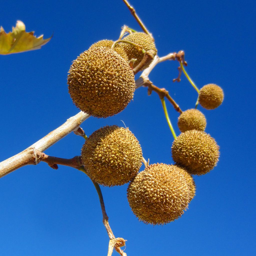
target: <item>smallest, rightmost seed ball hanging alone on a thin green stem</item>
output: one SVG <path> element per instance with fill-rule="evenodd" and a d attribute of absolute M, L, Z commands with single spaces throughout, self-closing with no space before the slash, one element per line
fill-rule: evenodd
<path fill-rule="evenodd" d="M 205 109 L 215 109 L 223 99 L 223 90 L 216 84 L 210 83 L 200 89 L 198 102 Z"/>

